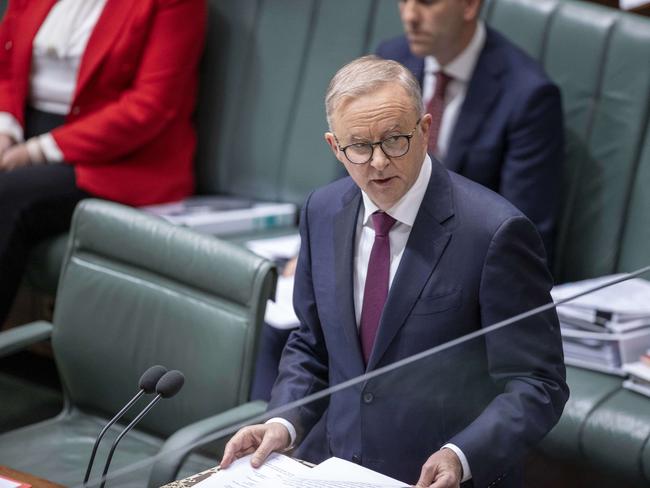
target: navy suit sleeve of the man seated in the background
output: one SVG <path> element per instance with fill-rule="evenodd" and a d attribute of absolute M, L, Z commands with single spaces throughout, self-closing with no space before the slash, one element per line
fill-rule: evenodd
<path fill-rule="evenodd" d="M 511 121 L 499 193 L 533 221 L 550 261 L 564 159 L 560 91 L 546 83 L 522 97 Z"/>

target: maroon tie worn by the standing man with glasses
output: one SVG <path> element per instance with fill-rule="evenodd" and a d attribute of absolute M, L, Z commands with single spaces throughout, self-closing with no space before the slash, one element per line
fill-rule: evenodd
<path fill-rule="evenodd" d="M 388 296 L 388 279 L 390 276 L 390 242 L 388 232 L 395 224 L 395 219 L 384 212 L 372 214 L 372 225 L 375 228 L 375 242 L 370 251 L 368 274 L 363 292 L 361 307 L 361 323 L 359 336 L 363 359 L 368 364 L 372 346 L 375 343 L 379 318 Z"/>

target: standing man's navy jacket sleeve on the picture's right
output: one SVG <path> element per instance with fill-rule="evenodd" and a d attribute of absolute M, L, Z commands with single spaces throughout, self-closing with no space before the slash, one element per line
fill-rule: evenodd
<path fill-rule="evenodd" d="M 493 236 L 480 284 L 481 322 L 489 326 L 551 301 L 542 243 L 523 217 Z M 555 309 L 485 336 L 488 369 L 500 393 L 450 439 L 465 454 L 476 486 L 488 486 L 557 423 L 568 399 Z"/>

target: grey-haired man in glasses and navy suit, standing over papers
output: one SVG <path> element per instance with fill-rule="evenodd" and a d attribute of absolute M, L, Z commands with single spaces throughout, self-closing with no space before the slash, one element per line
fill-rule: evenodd
<path fill-rule="evenodd" d="M 427 155 L 431 115 L 401 64 L 360 58 L 335 75 L 325 138 L 349 177 L 301 215 L 300 327 L 270 408 L 550 302 L 534 225 Z M 568 397 L 557 315 L 535 315 L 409 367 L 245 427 L 222 460 L 297 446 L 418 486 L 521 483 L 521 460 Z"/>

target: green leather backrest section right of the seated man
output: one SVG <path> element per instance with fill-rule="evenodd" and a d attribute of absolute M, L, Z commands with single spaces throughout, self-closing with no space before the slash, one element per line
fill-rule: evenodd
<path fill-rule="evenodd" d="M 638 228 L 647 228 L 647 212 L 637 205 L 644 200 L 638 187 L 647 154 L 650 20 L 571 0 L 490 0 L 484 16 L 538 59 L 562 91 L 567 155 L 556 278 L 646 262 L 637 239 L 647 232 Z"/>

